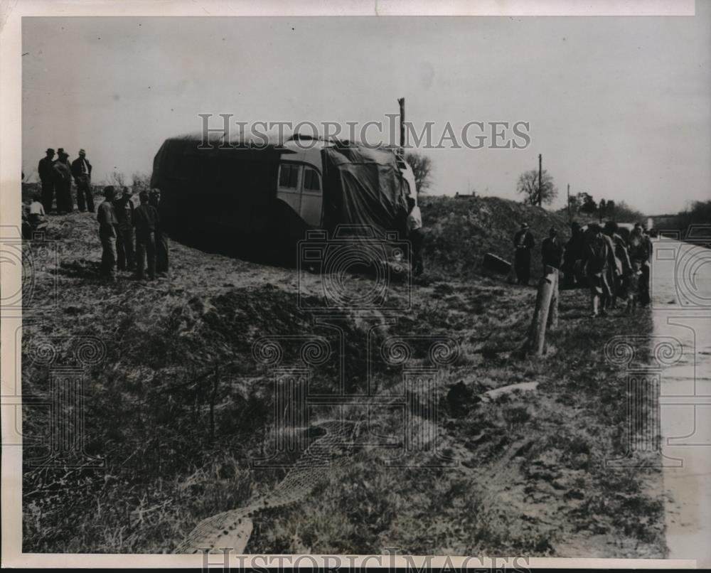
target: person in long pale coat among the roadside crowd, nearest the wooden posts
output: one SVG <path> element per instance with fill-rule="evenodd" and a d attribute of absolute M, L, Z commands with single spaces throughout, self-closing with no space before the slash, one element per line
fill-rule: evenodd
<path fill-rule="evenodd" d="M 590 223 L 588 229 L 586 271 L 590 285 L 591 318 L 606 316 L 605 306 L 612 297 L 612 269 L 615 266 L 615 247 L 602 227 Z"/>

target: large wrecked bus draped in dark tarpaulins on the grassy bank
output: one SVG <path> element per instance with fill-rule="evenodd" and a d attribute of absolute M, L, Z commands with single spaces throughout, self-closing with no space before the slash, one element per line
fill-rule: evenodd
<path fill-rule="evenodd" d="M 412 169 L 393 148 L 293 136 L 286 141 L 166 139 L 151 187 L 173 235 L 227 239 L 238 251 L 288 250 L 309 229 L 405 236 Z M 360 232 L 359 231 L 359 232 Z"/>

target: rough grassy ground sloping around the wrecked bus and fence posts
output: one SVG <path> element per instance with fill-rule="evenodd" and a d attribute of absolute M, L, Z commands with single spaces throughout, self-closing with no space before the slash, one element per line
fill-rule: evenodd
<path fill-rule="evenodd" d="M 437 412 L 438 451 L 456 463 L 385 466 L 383 448 L 360 446 L 314 494 L 257 515 L 247 552 L 663 557 L 661 472 L 604 464 L 625 450 L 628 397 L 626 375 L 606 363 L 604 345 L 650 331 L 648 312 L 591 321 L 587 293 L 564 291 L 547 355 L 520 357 L 535 289 L 482 277 L 476 264 L 486 250 L 506 255 L 520 216 L 541 237 L 554 215 L 495 199 L 427 205 L 429 272 L 396 323 L 377 312 L 370 320 L 382 324 L 376 343 L 397 335 L 459 343 L 459 358 L 439 371 L 437 396 L 425 405 Z M 476 230 L 492 221 L 496 232 Z M 284 469 L 250 466 L 268 449 L 274 424 L 271 375 L 255 362 L 252 343 L 289 334 L 335 343 L 298 304 L 299 294 L 317 302 L 324 278 L 172 242 L 169 279 L 141 284 L 119 273 L 106 284 L 92 215 L 50 217 L 48 238 L 58 246 L 58 289 L 50 272 L 34 275 L 23 393 L 48 392 L 43 339 L 55 337 L 55 363 L 69 364 L 77 337 L 100 338 L 105 358 L 85 369 L 85 434 L 87 454 L 105 467 L 33 467 L 28 460 L 45 450 L 26 446 L 23 550 L 170 552 L 202 518 L 274 488 Z M 347 283 L 353 294 L 372 287 L 368 277 Z M 389 287 L 392 301 L 407 295 L 406 284 Z M 351 316 L 341 326 L 346 386 L 363 393 L 368 321 Z M 647 353 L 638 348 L 642 362 Z M 400 369 L 370 362 L 376 395 L 402 391 Z M 333 390 L 337 377 L 328 360 L 314 387 Z M 519 382 L 538 387 L 486 395 Z M 312 421 L 331 415 L 316 409 Z M 396 432 L 398 415 L 383 409 L 370 430 Z M 43 410 L 27 405 L 26 436 L 40 438 L 46 427 Z"/>

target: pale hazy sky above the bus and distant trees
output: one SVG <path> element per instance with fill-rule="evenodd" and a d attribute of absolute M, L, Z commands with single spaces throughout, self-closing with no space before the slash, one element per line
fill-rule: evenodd
<path fill-rule="evenodd" d="M 22 60 L 29 180 L 47 147 L 86 149 L 95 183 L 150 173 L 200 113 L 387 124 L 405 97 L 436 141 L 447 122 L 530 125 L 525 149 L 417 150 L 433 195 L 520 199 L 542 154 L 553 208 L 567 184 L 647 215 L 711 198 L 711 3 L 694 17 L 26 17 Z"/>

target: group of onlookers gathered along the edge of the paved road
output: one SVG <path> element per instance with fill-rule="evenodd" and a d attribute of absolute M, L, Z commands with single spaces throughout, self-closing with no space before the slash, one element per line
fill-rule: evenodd
<path fill-rule="evenodd" d="M 604 226 L 590 223 L 585 229 L 574 222 L 571 232 L 563 246 L 555 227 L 550 229 L 541 245 L 542 262 L 560 269 L 563 287 L 589 287 L 591 316 L 606 315 L 609 309 L 616 308 L 618 299 L 626 299 L 629 311 L 634 311 L 637 304 L 649 304 L 652 243 L 640 223 L 635 223 L 626 239 L 614 221 Z M 526 223 L 520 225 L 513 245 L 516 282 L 528 284 L 535 239 Z"/>

